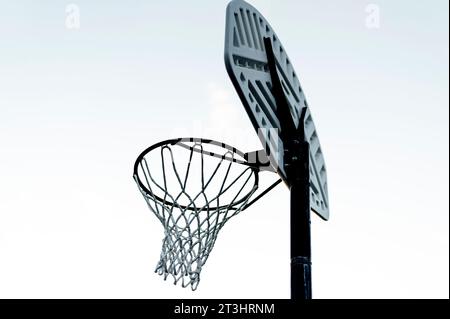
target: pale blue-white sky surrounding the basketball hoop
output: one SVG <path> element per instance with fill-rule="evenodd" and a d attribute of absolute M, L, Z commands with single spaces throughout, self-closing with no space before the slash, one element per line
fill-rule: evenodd
<path fill-rule="evenodd" d="M 448 1 L 250 3 L 327 162 L 314 297 L 448 298 Z M 223 62 L 227 1 L 79 0 L 79 29 L 68 4 L 0 0 L 0 297 L 289 298 L 284 185 L 229 222 L 192 292 L 154 274 L 163 229 L 132 179 L 169 138 L 261 147 Z"/>

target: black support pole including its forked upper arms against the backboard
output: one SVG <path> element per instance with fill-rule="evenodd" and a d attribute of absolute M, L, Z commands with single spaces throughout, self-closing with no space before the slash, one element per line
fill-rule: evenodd
<path fill-rule="evenodd" d="M 311 206 L 309 198 L 309 143 L 305 139 L 306 107 L 296 127 L 278 76 L 272 40 L 264 38 L 267 64 L 285 143 L 288 184 L 291 190 L 291 299 L 308 300 L 311 293 Z"/>

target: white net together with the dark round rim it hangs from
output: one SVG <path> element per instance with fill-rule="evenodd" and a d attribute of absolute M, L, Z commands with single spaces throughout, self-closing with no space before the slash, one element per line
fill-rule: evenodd
<path fill-rule="evenodd" d="M 135 180 L 164 226 L 156 273 L 196 290 L 219 231 L 258 189 L 259 169 L 222 143 L 180 139 L 156 145 L 135 165 Z"/>

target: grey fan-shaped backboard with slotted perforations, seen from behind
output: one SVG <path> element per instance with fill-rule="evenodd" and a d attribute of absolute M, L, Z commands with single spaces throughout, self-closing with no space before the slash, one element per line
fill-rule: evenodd
<path fill-rule="evenodd" d="M 278 36 L 254 7 L 242 0 L 228 5 L 225 36 L 225 64 L 272 166 L 286 181 L 281 125 L 264 38 L 272 39 L 278 76 L 289 104 L 295 126 L 301 111 L 307 108 L 305 136 L 310 143 L 311 208 L 325 220 L 329 218 L 327 170 L 311 112 L 297 74 Z"/>

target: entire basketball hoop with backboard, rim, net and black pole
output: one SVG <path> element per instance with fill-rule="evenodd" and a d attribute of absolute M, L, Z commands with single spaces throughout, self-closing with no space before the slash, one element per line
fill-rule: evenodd
<path fill-rule="evenodd" d="M 225 66 L 263 150 L 243 153 L 190 138 L 139 156 L 134 179 L 165 230 L 156 272 L 196 290 L 222 227 L 284 181 L 291 194 L 291 298 L 311 299 L 311 211 L 330 218 L 316 125 L 293 63 L 264 16 L 233 0 L 225 30 Z M 263 171 L 280 179 L 257 195 Z"/>

